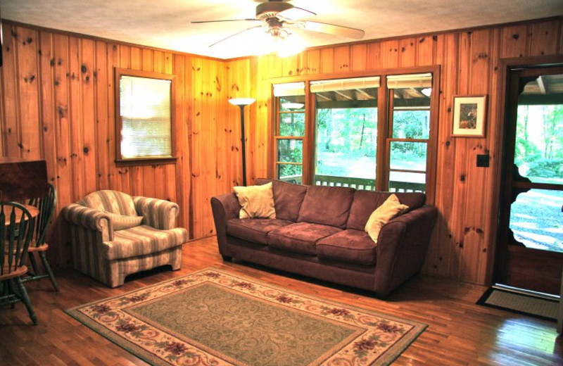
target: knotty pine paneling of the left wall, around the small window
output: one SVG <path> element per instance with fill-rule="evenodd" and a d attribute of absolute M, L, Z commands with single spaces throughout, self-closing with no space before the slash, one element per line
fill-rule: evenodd
<path fill-rule="evenodd" d="M 67 227 L 58 213 L 97 189 L 175 201 L 178 225 L 188 228 L 191 238 L 213 234 L 209 198 L 231 185 L 217 185 L 215 164 L 206 161 L 217 160 L 216 132 L 231 123 L 227 94 L 217 91 L 224 83 L 224 61 L 10 21 L 3 25 L 1 155 L 47 162 L 58 193 L 48 238 L 53 267 L 66 267 L 70 258 Z M 176 75 L 176 164 L 115 165 L 115 67 Z M 194 136 L 197 150 L 191 147 Z M 230 158 L 222 154 L 224 169 Z"/>

